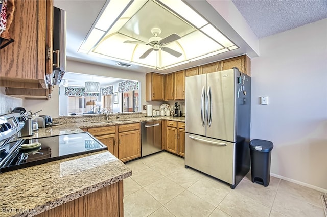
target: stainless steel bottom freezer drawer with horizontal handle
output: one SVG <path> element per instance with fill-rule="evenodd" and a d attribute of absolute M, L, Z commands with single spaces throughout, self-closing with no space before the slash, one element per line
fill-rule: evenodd
<path fill-rule="evenodd" d="M 235 184 L 235 143 L 185 133 L 185 166 Z"/>

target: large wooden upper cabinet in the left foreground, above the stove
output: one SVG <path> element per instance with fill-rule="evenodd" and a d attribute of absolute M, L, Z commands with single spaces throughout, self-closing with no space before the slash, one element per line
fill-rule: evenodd
<path fill-rule="evenodd" d="M 48 89 L 52 73 L 53 1 L 15 1 L 9 32 L 14 42 L 0 50 L 0 86 Z M 51 39 L 49 38 L 51 37 Z M 50 66 L 51 65 L 51 66 Z"/>

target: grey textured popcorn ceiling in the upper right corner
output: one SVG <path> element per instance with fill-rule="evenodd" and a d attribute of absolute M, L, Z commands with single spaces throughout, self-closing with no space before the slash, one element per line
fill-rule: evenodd
<path fill-rule="evenodd" d="M 258 38 L 327 18 L 327 0 L 232 0 Z"/>

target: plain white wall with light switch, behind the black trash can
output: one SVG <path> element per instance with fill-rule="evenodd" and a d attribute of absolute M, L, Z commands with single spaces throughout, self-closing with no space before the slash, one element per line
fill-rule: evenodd
<path fill-rule="evenodd" d="M 327 19 L 261 39 L 251 77 L 251 139 L 274 143 L 271 173 L 327 192 Z"/>

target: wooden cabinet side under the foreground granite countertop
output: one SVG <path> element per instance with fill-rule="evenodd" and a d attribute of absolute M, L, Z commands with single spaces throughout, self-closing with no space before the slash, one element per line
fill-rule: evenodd
<path fill-rule="evenodd" d="M 37 217 L 124 216 L 123 180 L 64 203 Z"/>

